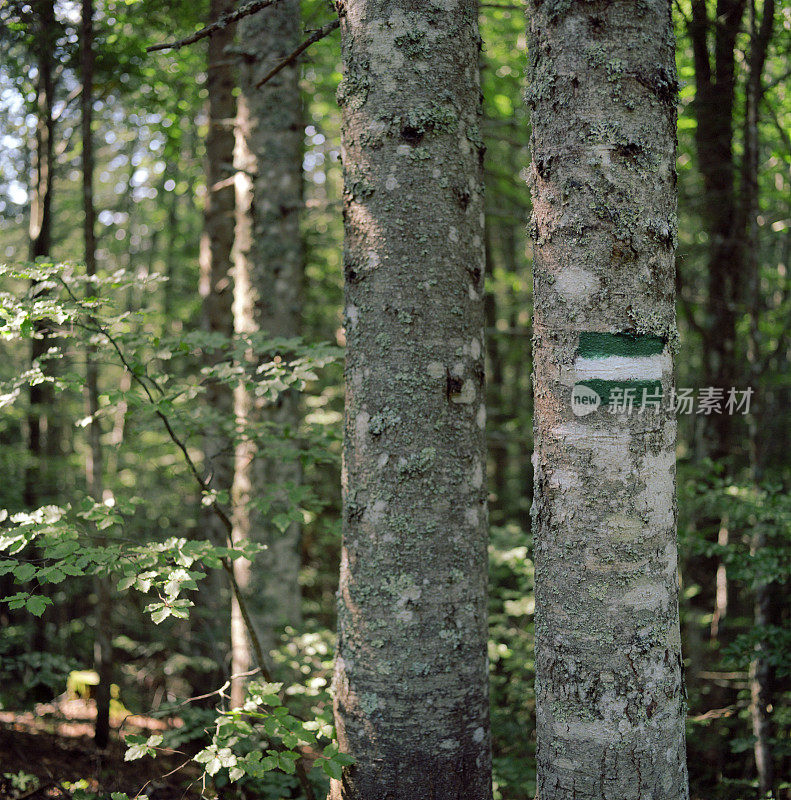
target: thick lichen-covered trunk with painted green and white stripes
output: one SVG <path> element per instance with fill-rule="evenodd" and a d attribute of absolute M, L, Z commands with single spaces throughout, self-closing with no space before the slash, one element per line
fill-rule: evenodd
<path fill-rule="evenodd" d="M 670 4 L 529 19 L 537 797 L 682 800 Z M 647 385 L 659 410 L 609 411 Z"/>

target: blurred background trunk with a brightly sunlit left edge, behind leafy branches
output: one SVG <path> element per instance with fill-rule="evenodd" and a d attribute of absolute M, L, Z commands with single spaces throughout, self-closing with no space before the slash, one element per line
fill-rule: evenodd
<path fill-rule="evenodd" d="M 298 0 L 281 0 L 239 24 L 240 94 L 236 123 L 236 245 L 234 260 L 234 325 L 237 333 L 294 337 L 302 312 L 303 246 L 299 220 L 303 204 L 303 123 L 299 66 L 281 70 L 264 86 L 256 83 L 301 39 Z M 244 387 L 234 392 L 240 428 L 274 425 L 285 434 L 299 424 L 299 402 L 288 392 L 274 407 L 260 402 Z M 254 564 L 234 562 L 236 579 L 250 597 L 253 623 L 266 647 L 276 631 L 300 621 L 300 528 L 280 532 L 267 519 L 288 502 L 288 485 L 301 482 L 296 458 L 267 457 L 255 441 L 244 437 L 236 448 L 233 481 L 234 539 L 267 545 Z M 250 501 L 271 498 L 268 515 Z M 251 657 L 247 632 L 234 600 L 231 618 L 233 672 L 248 670 Z M 243 681 L 234 681 L 232 702 L 238 704 Z"/>

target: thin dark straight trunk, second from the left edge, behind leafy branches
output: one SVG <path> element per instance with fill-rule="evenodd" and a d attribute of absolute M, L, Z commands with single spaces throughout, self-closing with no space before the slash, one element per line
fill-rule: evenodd
<path fill-rule="evenodd" d="M 96 275 L 96 210 L 93 204 L 93 0 L 82 0 L 82 27 L 80 31 L 80 71 L 82 94 L 80 97 L 82 124 L 82 202 L 83 238 L 85 244 L 85 272 Z M 89 294 L 95 289 L 90 286 Z M 96 349 L 88 345 L 85 352 L 85 405 L 91 422 L 88 425 L 88 453 L 85 459 L 85 477 L 88 493 L 97 503 L 102 502 L 103 467 L 101 426 L 99 411 L 99 375 Z M 98 577 L 96 588 L 96 631 L 93 659 L 99 684 L 96 687 L 96 725 L 94 741 L 97 747 L 106 747 L 110 737 L 110 684 L 112 682 L 112 601 L 108 578 Z"/>

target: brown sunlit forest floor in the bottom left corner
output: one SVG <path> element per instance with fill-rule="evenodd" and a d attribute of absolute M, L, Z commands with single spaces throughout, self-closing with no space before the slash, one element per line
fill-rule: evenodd
<path fill-rule="evenodd" d="M 174 752 L 156 760 L 124 761 L 119 724 L 124 735 L 151 735 L 168 723 L 138 715 L 114 720 L 110 744 L 97 750 L 95 716 L 90 700 L 40 704 L 28 712 L 0 711 L 0 800 L 109 800 L 111 792 L 129 797 L 140 793 L 147 800 L 200 796 L 199 767 L 189 756 Z"/>

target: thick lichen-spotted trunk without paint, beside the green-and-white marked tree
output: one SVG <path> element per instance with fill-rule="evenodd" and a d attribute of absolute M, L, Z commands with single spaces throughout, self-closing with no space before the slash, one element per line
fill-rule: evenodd
<path fill-rule="evenodd" d="M 341 19 L 346 420 L 334 800 L 491 797 L 477 3 Z"/>

